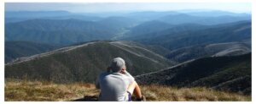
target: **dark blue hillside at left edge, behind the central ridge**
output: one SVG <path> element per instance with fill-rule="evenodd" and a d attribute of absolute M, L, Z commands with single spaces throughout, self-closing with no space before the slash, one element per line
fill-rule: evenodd
<path fill-rule="evenodd" d="M 4 42 L 4 63 L 14 61 L 17 57 L 28 57 L 42 52 L 52 51 L 59 46 L 30 41 Z"/>

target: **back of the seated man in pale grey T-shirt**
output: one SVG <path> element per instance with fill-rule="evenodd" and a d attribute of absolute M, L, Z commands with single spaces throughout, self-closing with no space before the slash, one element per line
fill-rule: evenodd
<path fill-rule="evenodd" d="M 126 90 L 128 85 L 134 81 L 129 74 L 120 73 L 102 73 L 99 76 L 99 85 L 101 87 L 100 101 L 127 101 Z"/>

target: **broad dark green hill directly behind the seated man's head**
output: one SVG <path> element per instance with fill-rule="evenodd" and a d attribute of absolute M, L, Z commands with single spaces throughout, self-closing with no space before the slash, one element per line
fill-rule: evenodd
<path fill-rule="evenodd" d="M 5 65 L 5 78 L 58 83 L 94 82 L 113 57 L 123 57 L 132 75 L 146 74 L 174 63 L 129 41 L 93 41 L 23 57 Z"/>

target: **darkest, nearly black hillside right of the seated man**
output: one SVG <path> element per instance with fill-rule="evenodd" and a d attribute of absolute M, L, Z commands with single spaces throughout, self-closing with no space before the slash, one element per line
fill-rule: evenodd
<path fill-rule="evenodd" d="M 146 85 L 204 86 L 250 95 L 251 59 L 251 53 L 236 57 L 205 57 L 172 68 L 138 75 L 136 79 L 138 83 Z"/>

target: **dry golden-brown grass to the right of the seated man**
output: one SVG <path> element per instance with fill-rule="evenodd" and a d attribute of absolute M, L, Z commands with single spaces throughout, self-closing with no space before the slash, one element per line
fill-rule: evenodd
<path fill-rule="evenodd" d="M 202 87 L 178 89 L 164 85 L 142 85 L 141 88 L 148 101 L 252 101 L 251 96 Z"/>

